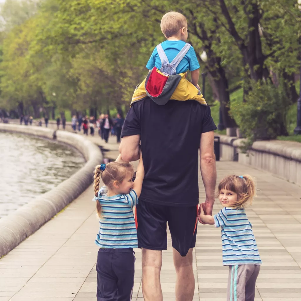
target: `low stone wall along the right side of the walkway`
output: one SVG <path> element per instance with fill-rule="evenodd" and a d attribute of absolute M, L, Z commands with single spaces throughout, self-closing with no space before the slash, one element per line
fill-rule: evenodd
<path fill-rule="evenodd" d="M 294 141 L 256 141 L 248 154 L 240 152 L 245 139 L 220 135 L 221 158 L 238 161 L 278 175 L 301 185 L 301 143 Z"/>

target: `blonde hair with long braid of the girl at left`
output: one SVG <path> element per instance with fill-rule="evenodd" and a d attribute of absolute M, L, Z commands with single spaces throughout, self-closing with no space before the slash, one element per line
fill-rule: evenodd
<path fill-rule="evenodd" d="M 121 183 L 126 175 L 134 174 L 133 166 L 126 161 L 116 161 L 106 164 L 106 168 L 101 170 L 101 165 L 97 165 L 94 171 L 94 195 L 98 197 L 100 178 L 107 188 L 111 189 L 113 187 L 113 182 L 118 181 Z M 96 199 L 96 211 L 97 215 L 101 217 L 101 204 L 98 199 Z"/>

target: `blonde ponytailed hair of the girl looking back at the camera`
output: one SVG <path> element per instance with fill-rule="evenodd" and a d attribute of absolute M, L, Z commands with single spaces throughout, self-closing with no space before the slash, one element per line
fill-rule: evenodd
<path fill-rule="evenodd" d="M 243 175 L 243 178 L 238 175 L 228 175 L 219 183 L 219 188 L 216 197 L 222 189 L 231 190 L 237 194 L 237 202 L 229 207 L 242 209 L 247 205 L 247 202 L 252 203 L 253 197 L 256 197 L 256 185 L 250 175 Z"/>

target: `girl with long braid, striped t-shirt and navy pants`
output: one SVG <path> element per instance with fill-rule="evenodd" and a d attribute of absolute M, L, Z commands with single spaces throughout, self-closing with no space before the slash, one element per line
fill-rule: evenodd
<path fill-rule="evenodd" d="M 134 286 L 135 252 L 138 248 L 133 206 L 138 204 L 144 178 L 140 160 L 133 182 L 132 165 L 121 160 L 96 166 L 94 191 L 99 231 L 97 256 L 97 301 L 131 301 Z M 100 186 L 100 178 L 104 186 Z"/>

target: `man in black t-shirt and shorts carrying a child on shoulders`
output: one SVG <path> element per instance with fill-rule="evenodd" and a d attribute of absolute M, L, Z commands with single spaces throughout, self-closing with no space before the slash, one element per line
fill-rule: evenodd
<path fill-rule="evenodd" d="M 157 104 L 146 98 L 134 103 L 126 116 L 119 151 L 123 160 L 138 160 L 141 141 L 145 169 L 136 221 L 146 301 L 163 300 L 160 270 L 162 250 L 167 248 L 167 222 L 177 274 L 176 300 L 193 299 L 192 250 L 200 214 L 198 151 L 206 190 L 202 206 L 211 214 L 216 184 L 215 129 L 210 108 L 192 100 Z"/>

